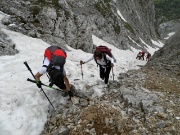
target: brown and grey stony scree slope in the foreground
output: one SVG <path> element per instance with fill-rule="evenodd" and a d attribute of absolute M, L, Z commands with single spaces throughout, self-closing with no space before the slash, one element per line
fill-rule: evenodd
<path fill-rule="evenodd" d="M 170 78 L 152 69 L 121 73 L 101 97 L 68 102 L 51 114 L 41 135 L 178 135 L 180 83 Z"/>

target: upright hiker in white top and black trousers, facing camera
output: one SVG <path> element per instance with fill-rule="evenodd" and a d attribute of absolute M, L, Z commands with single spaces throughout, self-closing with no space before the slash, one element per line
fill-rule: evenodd
<path fill-rule="evenodd" d="M 111 68 L 114 66 L 114 59 L 108 56 L 106 53 L 99 52 L 97 50 L 94 51 L 94 55 L 89 60 L 83 62 L 80 61 L 80 64 L 88 63 L 91 60 L 95 60 L 99 65 L 100 69 L 100 78 L 104 80 L 105 87 L 109 87 L 108 80 Z"/>

